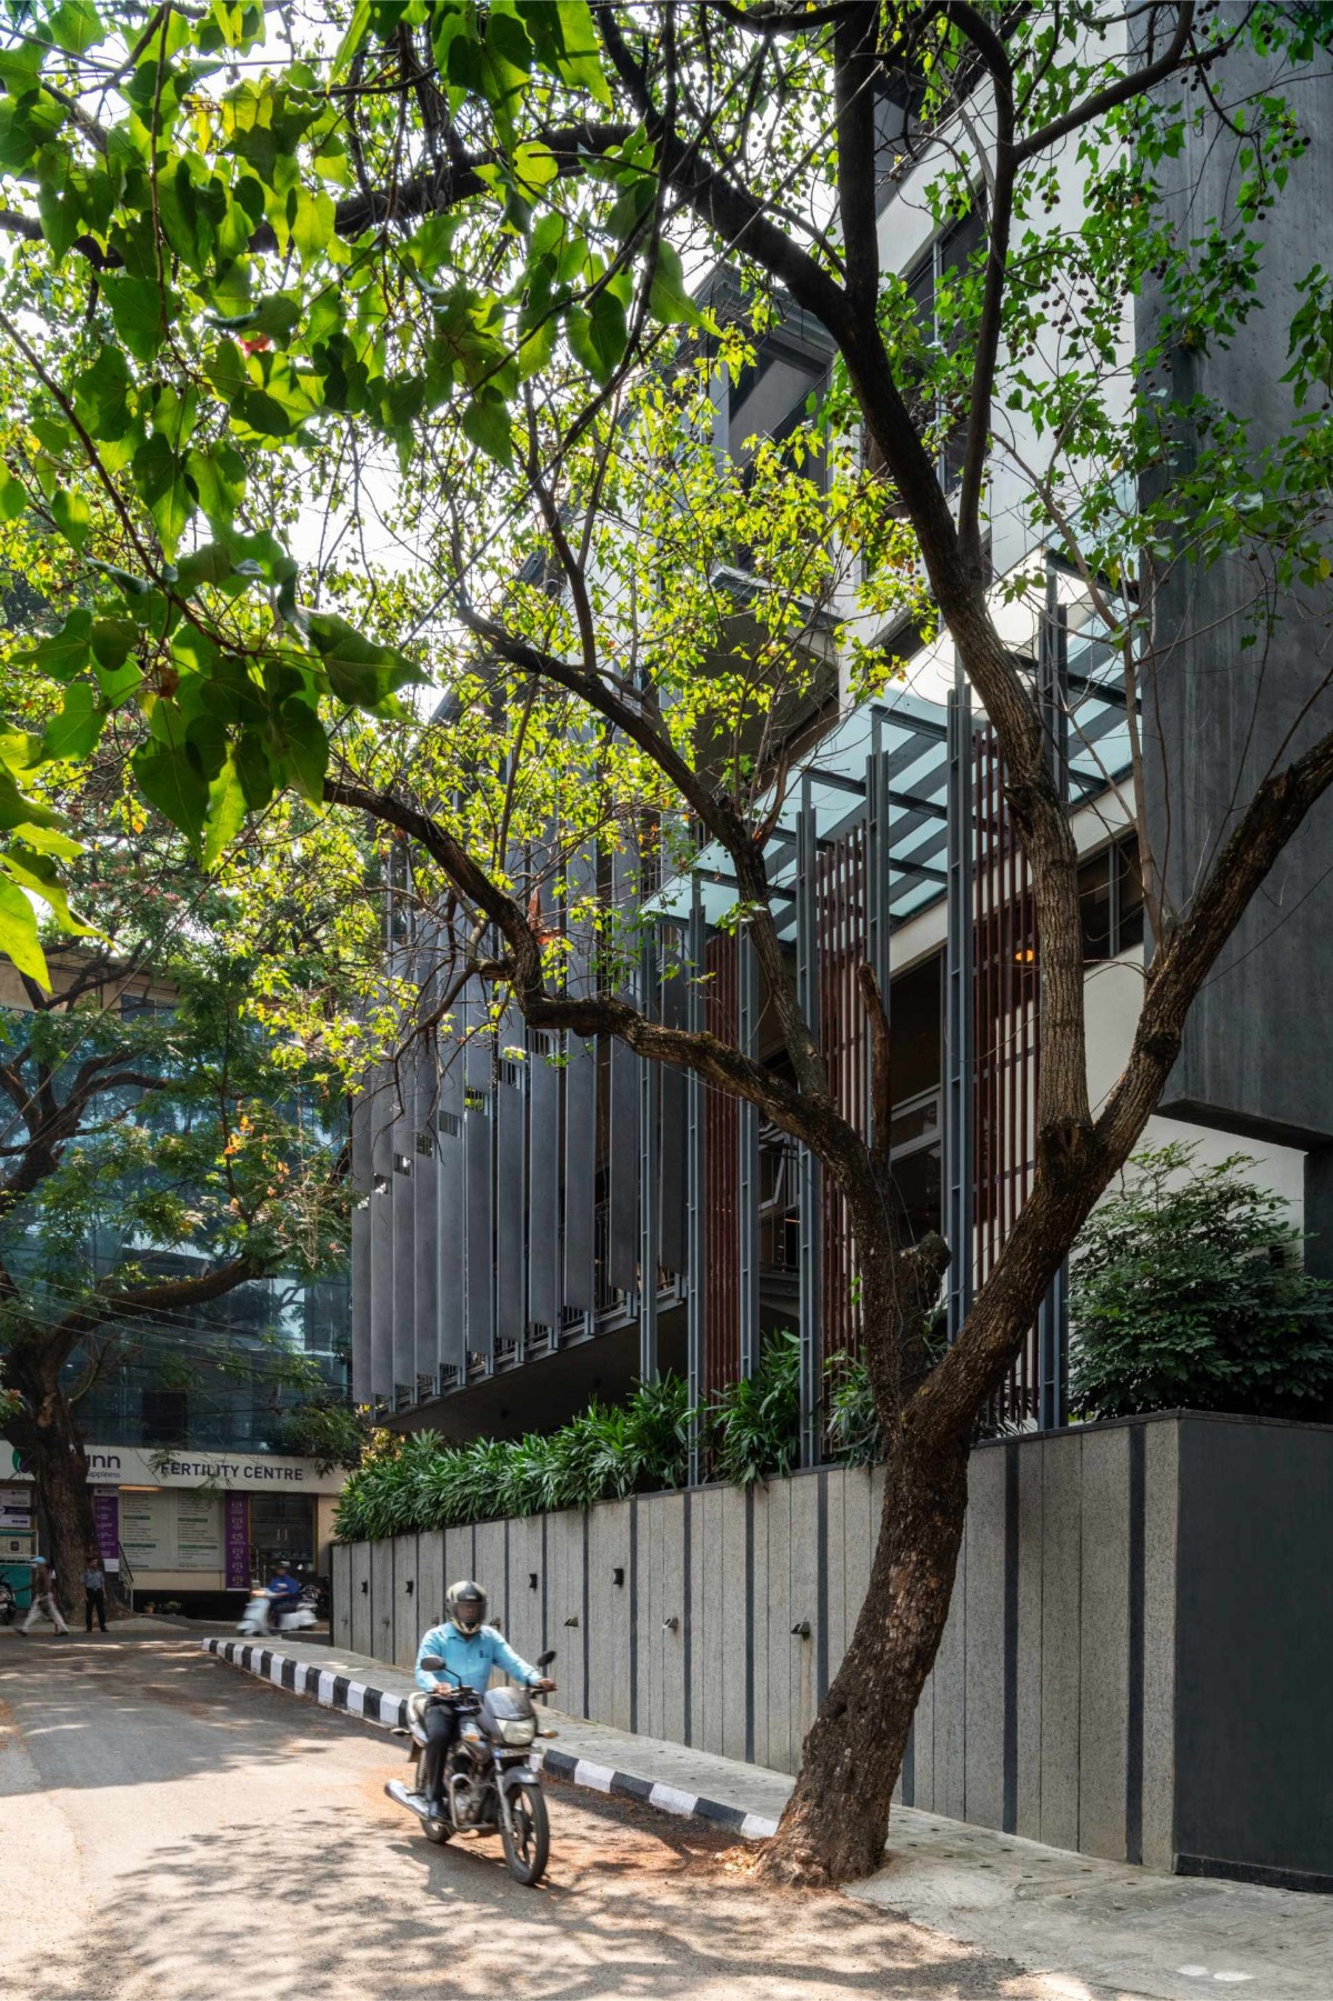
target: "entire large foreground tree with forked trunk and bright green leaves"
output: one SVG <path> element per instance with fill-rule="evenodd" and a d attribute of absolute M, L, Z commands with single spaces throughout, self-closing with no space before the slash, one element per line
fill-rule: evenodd
<path fill-rule="evenodd" d="M 480 982 L 500 1039 L 514 1011 L 618 1037 L 761 1107 L 843 1191 L 885 1515 L 765 1867 L 865 1873 L 949 1609 L 977 1413 L 1135 1147 L 1219 950 L 1333 780 L 1333 734 L 1307 730 L 1173 894 L 1139 756 L 1157 944 L 1131 1057 L 1093 1115 L 1075 838 L 1027 650 L 1007 636 L 1035 578 L 991 576 L 987 480 L 1005 460 L 1029 528 L 1063 536 L 1131 692 L 1169 666 L 1163 578 L 1179 564 L 1255 560 L 1249 624 L 1223 648 L 1305 592 L 1321 616 L 1327 272 L 1307 274 L 1277 342 L 1279 436 L 1173 390 L 1167 370 L 1225 348 L 1259 308 L 1263 218 L 1301 184 L 1287 86 L 1329 10 L 358 0 L 336 28 L 334 12 L 270 32 L 254 4 L 194 16 L 168 0 L 144 20 L 66 0 L 10 42 L 0 224 L 20 248 L 0 332 L 28 448 L 0 506 L 110 564 L 94 616 L 66 622 L 44 664 L 62 664 L 90 728 L 126 698 L 88 694 L 106 652 L 152 688 L 136 780 L 210 856 L 282 786 L 394 830 L 412 856 L 396 880 L 428 918 L 394 960 L 416 1025 L 448 1033 Z M 881 262 L 885 102 L 907 108 L 895 170 L 913 170 L 935 222 L 985 206 L 929 316 Z M 1235 148 L 1237 174 L 1233 206 L 1191 242 L 1165 178 L 1197 126 Z M 737 264 L 759 320 L 799 310 L 831 348 L 805 436 L 753 466 L 717 466 L 701 436 L 709 370 L 745 360 L 745 332 L 689 296 L 705 250 Z M 1159 324 L 1133 354 L 1125 300 L 1149 288 Z M 801 484 L 803 452 L 829 468 L 823 496 Z M 330 544 L 364 548 L 388 512 L 410 562 L 356 574 L 316 556 L 302 584 L 276 532 L 300 480 Z M 719 582 L 737 544 L 759 552 L 745 616 Z M 891 650 L 857 648 L 891 612 L 947 628 L 1035 888 L 1035 1179 L 935 1367 L 921 1325 L 943 1247 L 905 1245 L 891 1221 L 883 996 L 867 968 L 865 1141 L 833 1105 L 773 922 L 773 786 L 787 724 L 821 688 L 821 604 L 863 684 L 895 670 Z M 434 720 L 394 692 L 426 662 L 448 696 Z M 725 854 L 783 1071 L 626 998 L 632 936 L 588 850 L 630 828 L 650 856 L 699 830 Z M 580 932 L 594 944 L 572 948 Z M 298 994 L 282 1005 L 300 1013 Z"/>

